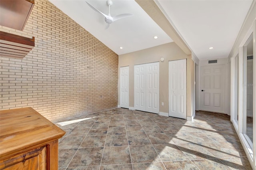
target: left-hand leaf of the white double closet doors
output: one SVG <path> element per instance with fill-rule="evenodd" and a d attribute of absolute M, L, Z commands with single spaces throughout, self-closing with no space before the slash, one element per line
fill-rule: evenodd
<path fill-rule="evenodd" d="M 134 65 L 134 109 L 146 111 L 145 65 Z"/>

